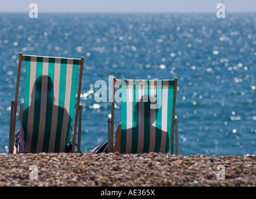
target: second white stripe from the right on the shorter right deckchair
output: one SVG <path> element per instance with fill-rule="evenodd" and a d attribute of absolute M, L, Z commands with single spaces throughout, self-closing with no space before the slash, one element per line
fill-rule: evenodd
<path fill-rule="evenodd" d="M 150 80 L 150 102 L 155 103 L 156 95 L 156 81 Z M 155 150 L 155 108 L 150 106 L 150 142 L 149 142 L 149 152 L 154 152 Z"/>

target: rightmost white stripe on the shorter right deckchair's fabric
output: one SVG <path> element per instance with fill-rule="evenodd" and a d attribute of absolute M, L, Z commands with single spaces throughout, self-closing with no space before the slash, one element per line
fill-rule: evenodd
<path fill-rule="evenodd" d="M 160 152 L 165 153 L 167 139 L 167 110 L 168 110 L 168 80 L 163 80 L 162 88 L 162 136 L 160 144 Z"/>

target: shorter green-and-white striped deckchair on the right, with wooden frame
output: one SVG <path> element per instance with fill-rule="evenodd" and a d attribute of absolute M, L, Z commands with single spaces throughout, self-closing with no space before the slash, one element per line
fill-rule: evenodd
<path fill-rule="evenodd" d="M 109 152 L 114 150 L 115 86 L 121 85 L 121 153 L 179 154 L 175 117 L 177 78 L 173 80 L 116 80 L 112 85 L 108 119 Z"/>

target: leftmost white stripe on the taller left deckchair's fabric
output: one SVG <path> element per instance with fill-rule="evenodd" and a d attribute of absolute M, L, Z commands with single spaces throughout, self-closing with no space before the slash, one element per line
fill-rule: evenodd
<path fill-rule="evenodd" d="M 27 116 L 27 137 L 25 151 L 30 152 L 32 142 L 32 132 L 34 123 L 34 103 L 36 93 L 36 60 L 37 57 L 31 57 L 30 62 L 30 80 L 29 80 L 29 108 Z"/>

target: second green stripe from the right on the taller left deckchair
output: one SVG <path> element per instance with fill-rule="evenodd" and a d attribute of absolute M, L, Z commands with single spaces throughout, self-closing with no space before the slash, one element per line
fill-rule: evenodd
<path fill-rule="evenodd" d="M 61 59 L 61 75 L 59 80 L 59 108 L 58 108 L 58 118 L 57 118 L 57 132 L 56 140 L 54 145 L 54 152 L 59 152 L 61 146 L 61 129 L 64 116 L 64 101 L 65 101 L 65 91 L 66 91 L 66 73 L 67 73 L 67 60 Z"/>

